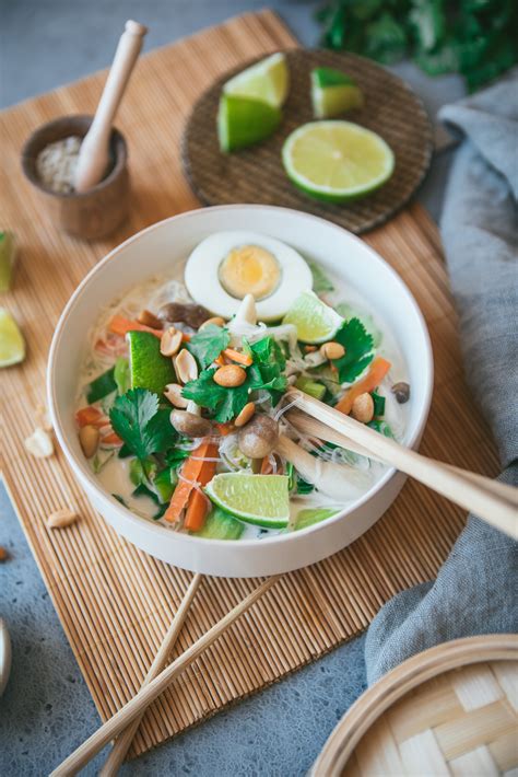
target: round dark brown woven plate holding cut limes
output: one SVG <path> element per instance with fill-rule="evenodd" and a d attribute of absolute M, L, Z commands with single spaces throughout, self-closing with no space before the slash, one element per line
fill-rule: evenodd
<path fill-rule="evenodd" d="M 432 129 L 423 104 L 401 79 L 353 54 L 297 49 L 286 51 L 291 90 L 281 128 L 266 142 L 222 154 L 216 114 L 222 84 L 243 70 L 225 73 L 196 103 L 184 135 L 184 164 L 196 194 L 208 205 L 259 202 L 316 213 L 360 234 L 387 221 L 423 181 L 432 158 Z M 257 60 L 254 60 L 257 61 Z M 249 62 L 250 63 L 250 62 Z M 313 117 L 309 73 L 318 66 L 352 76 L 365 94 L 365 107 L 346 118 L 381 135 L 396 154 L 390 181 L 375 194 L 349 205 L 309 199 L 287 181 L 281 149 L 287 135 Z"/>

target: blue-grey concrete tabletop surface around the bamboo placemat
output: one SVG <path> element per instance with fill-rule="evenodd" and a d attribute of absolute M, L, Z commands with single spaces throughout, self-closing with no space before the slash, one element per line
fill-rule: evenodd
<path fill-rule="evenodd" d="M 170 43 L 263 0 L 0 0 L 0 107 L 109 65 L 123 22 L 148 24 L 145 49 Z M 311 0 L 272 0 L 301 42 L 315 46 Z M 428 79 L 413 65 L 393 68 L 432 118 L 463 94 L 460 79 Z M 452 154 L 434 160 L 419 199 L 437 219 Z M 0 487 L 0 615 L 13 641 L 12 675 L 0 699 L 0 775 L 48 774 L 99 719 Z M 123 767 L 125 774 L 304 775 L 335 722 L 365 685 L 363 638 Z M 97 757 L 85 770 L 97 773 Z"/>

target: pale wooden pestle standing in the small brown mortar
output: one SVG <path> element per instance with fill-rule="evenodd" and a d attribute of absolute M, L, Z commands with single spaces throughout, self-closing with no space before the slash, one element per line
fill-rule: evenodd
<path fill-rule="evenodd" d="M 126 22 L 125 32 L 115 53 L 111 68 L 101 96 L 94 120 L 79 153 L 74 187 L 86 192 L 103 179 L 109 162 L 108 142 L 111 125 L 139 57 L 148 27 L 139 22 Z"/>

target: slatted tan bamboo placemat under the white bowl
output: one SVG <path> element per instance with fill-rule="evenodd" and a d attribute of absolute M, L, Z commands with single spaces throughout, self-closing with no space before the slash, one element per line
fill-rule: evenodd
<path fill-rule="evenodd" d="M 271 12 L 247 14 L 144 57 L 118 125 L 133 181 L 128 223 L 109 241 L 59 234 L 23 181 L 21 147 L 40 123 L 93 112 L 103 74 L 23 103 L 1 116 L 2 227 L 20 243 L 14 290 L 4 294 L 28 352 L 2 370 L 2 469 L 33 553 L 103 719 L 134 695 L 188 585 L 190 575 L 137 550 L 93 511 L 60 451 L 28 456 L 23 440 L 45 402 L 45 368 L 58 316 L 85 272 L 137 230 L 197 201 L 180 166 L 180 137 L 193 102 L 219 73 L 250 56 L 295 46 Z M 427 455 L 486 475 L 495 449 L 462 381 L 457 320 L 435 227 L 413 206 L 368 235 L 417 298 L 431 330 L 435 401 L 423 441 Z M 71 506 L 81 520 L 49 531 L 46 517 Z M 463 514 L 409 483 L 393 507 L 354 545 L 289 575 L 196 662 L 149 710 L 132 755 L 263 688 L 360 634 L 397 591 L 434 576 L 462 527 Z M 207 579 L 176 652 L 184 651 L 252 589 L 252 580 Z"/>

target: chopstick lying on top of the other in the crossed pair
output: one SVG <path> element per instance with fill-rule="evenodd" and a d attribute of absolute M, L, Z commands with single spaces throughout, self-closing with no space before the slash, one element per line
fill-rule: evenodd
<path fill-rule="evenodd" d="M 275 575 L 268 578 L 263 583 L 258 585 L 251 593 L 239 602 L 229 613 L 219 621 L 212 628 L 209 629 L 200 639 L 188 648 L 176 661 L 173 661 L 164 669 L 154 680 L 145 687 L 141 688 L 128 704 L 126 704 L 118 712 L 106 721 L 95 733 L 92 734 L 82 745 L 80 745 L 60 766 L 54 772 L 51 777 L 63 777 L 64 775 L 74 775 L 83 768 L 85 764 L 109 742 L 110 739 L 117 737 L 137 716 L 143 715 L 149 705 L 165 691 L 169 683 L 189 666 L 196 659 L 216 640 L 231 624 L 236 621 L 239 615 L 249 610 L 251 605 L 262 596 L 276 581 L 281 575 Z"/>

